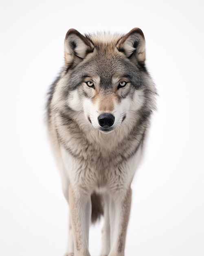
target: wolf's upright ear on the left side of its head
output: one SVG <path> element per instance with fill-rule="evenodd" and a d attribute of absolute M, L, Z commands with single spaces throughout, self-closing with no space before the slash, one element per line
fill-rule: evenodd
<path fill-rule="evenodd" d="M 79 64 L 90 52 L 94 45 L 88 38 L 81 35 L 76 29 L 69 29 L 64 40 L 65 63 L 67 67 Z"/>

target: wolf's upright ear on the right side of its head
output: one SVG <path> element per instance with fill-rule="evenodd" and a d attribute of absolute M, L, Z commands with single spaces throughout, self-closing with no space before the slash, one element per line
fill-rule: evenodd
<path fill-rule="evenodd" d="M 124 52 L 127 58 L 134 63 L 145 62 L 145 36 L 138 27 L 123 36 L 116 44 L 116 48 Z"/>

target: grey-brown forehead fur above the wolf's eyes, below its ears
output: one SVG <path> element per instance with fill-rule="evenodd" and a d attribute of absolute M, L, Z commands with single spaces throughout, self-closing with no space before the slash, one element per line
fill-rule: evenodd
<path fill-rule="evenodd" d="M 105 49 L 100 49 L 88 59 L 83 59 L 76 67 L 70 66 L 67 90 L 75 90 L 84 79 L 90 76 L 100 77 L 100 88 L 109 91 L 113 89 L 112 76 L 127 77 L 134 88 L 145 88 L 142 73 L 147 73 L 145 64 L 135 65 L 127 57 L 113 52 L 108 54 Z"/>

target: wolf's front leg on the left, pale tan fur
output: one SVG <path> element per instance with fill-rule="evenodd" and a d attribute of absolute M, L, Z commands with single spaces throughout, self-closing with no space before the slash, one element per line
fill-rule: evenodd
<path fill-rule="evenodd" d="M 69 186 L 69 206 L 74 238 L 74 256 L 90 256 L 88 252 L 91 198 Z"/>

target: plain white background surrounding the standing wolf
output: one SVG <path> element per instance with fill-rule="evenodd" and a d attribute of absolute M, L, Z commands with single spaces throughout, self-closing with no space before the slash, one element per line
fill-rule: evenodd
<path fill-rule="evenodd" d="M 204 2 L 1 0 L 0 255 L 63 256 L 68 207 L 51 154 L 46 92 L 64 38 L 140 27 L 159 92 L 132 184 L 126 256 L 204 255 Z M 90 252 L 100 252 L 100 225 Z"/>

